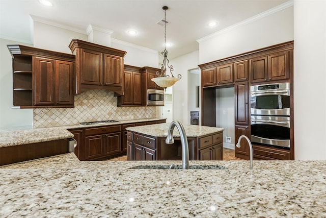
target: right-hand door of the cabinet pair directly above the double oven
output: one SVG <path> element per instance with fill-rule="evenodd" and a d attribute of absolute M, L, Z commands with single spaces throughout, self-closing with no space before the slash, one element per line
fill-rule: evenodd
<path fill-rule="evenodd" d="M 268 80 L 290 78 L 289 51 L 268 56 Z"/>

